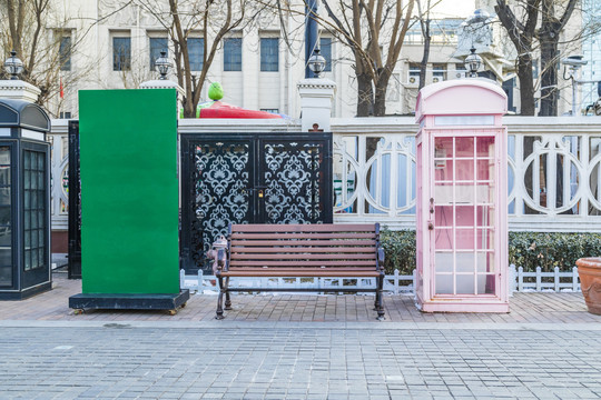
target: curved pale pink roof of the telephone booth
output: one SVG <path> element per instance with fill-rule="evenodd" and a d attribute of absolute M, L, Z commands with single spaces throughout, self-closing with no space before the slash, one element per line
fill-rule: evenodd
<path fill-rule="evenodd" d="M 417 94 L 415 121 L 425 116 L 499 116 L 508 112 L 508 96 L 484 78 L 442 81 L 424 87 Z"/>

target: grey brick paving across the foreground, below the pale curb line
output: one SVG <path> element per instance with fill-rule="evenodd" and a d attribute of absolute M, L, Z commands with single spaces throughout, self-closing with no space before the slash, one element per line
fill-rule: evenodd
<path fill-rule="evenodd" d="M 46 323 L 2 328 L 0 399 L 601 398 L 598 331 Z"/>

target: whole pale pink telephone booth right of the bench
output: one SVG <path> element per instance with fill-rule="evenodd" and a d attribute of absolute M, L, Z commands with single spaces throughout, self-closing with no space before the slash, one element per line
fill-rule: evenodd
<path fill-rule="evenodd" d="M 509 312 L 506 96 L 486 79 L 417 97 L 417 306 Z"/>

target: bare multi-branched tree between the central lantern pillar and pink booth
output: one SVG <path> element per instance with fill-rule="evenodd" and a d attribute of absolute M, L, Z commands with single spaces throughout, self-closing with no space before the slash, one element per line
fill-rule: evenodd
<path fill-rule="evenodd" d="M 357 117 L 386 113 L 386 90 L 407 32 L 414 0 L 324 0 L 319 23 L 347 46 L 357 78 Z"/>

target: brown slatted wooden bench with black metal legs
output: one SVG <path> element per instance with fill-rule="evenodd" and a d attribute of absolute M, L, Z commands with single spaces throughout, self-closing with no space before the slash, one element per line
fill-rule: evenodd
<path fill-rule="evenodd" d="M 223 251 L 223 250 L 221 250 Z M 231 291 L 324 291 L 314 288 L 230 288 L 230 277 L 376 278 L 375 287 L 341 288 L 375 292 L 377 318 L 384 318 L 384 250 L 380 224 L 230 224 L 227 254 L 218 257 L 217 319 L 231 309 Z"/>

